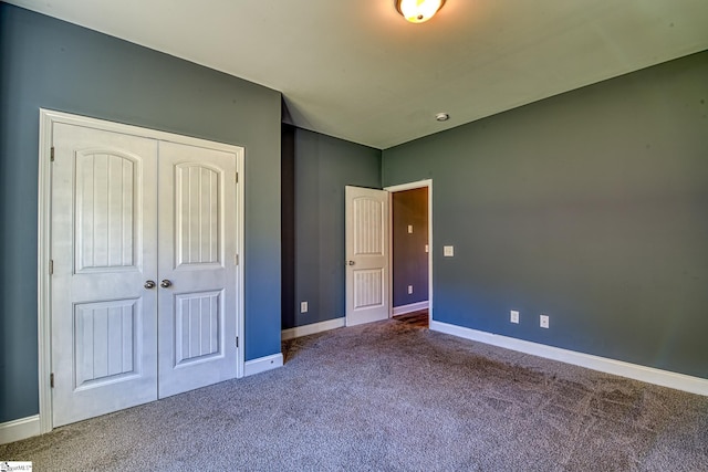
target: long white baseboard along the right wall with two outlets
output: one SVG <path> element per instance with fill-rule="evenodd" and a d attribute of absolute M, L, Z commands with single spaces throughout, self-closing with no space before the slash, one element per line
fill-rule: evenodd
<path fill-rule="evenodd" d="M 433 321 L 430 329 L 662 387 L 708 396 L 708 379 Z"/>

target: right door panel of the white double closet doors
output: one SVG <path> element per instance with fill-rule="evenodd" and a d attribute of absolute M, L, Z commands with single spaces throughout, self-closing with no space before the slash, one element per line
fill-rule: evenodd
<path fill-rule="evenodd" d="M 159 144 L 159 397 L 237 375 L 236 155 Z"/>

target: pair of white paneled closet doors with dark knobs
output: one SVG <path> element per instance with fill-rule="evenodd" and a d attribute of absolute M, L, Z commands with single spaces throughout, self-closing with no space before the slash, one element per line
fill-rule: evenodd
<path fill-rule="evenodd" d="M 236 155 L 55 123 L 53 426 L 236 377 Z"/>

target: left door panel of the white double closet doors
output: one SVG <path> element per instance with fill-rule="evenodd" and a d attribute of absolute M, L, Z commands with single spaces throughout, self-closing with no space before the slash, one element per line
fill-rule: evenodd
<path fill-rule="evenodd" d="M 53 145 L 56 427 L 157 399 L 157 141 L 54 124 Z"/>

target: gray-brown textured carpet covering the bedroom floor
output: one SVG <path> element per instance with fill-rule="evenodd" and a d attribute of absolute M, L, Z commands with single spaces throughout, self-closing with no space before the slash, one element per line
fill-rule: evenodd
<path fill-rule="evenodd" d="M 708 398 L 396 319 L 0 445 L 35 471 L 708 471 Z"/>

